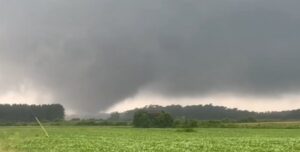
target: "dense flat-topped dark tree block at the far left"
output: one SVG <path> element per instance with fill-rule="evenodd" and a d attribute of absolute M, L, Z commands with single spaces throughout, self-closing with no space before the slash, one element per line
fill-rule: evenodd
<path fill-rule="evenodd" d="M 65 110 L 60 104 L 0 104 L 0 123 L 34 122 L 35 117 L 41 121 L 63 120 Z"/>

